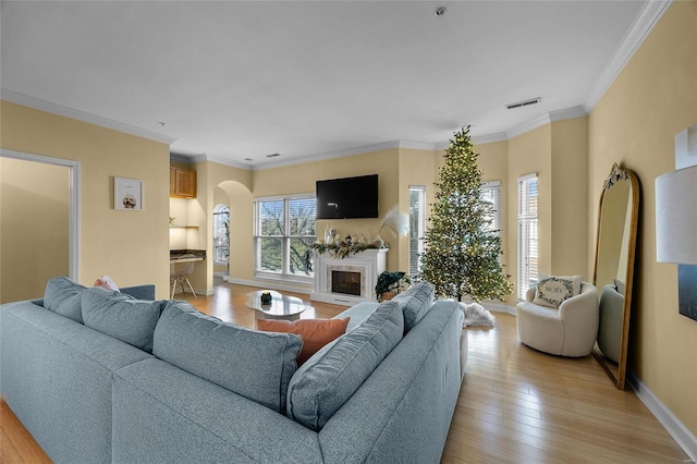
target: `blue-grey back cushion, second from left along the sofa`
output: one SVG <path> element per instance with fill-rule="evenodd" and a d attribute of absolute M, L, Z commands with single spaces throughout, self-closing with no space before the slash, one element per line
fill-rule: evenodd
<path fill-rule="evenodd" d="M 125 293 L 93 286 L 82 294 L 85 326 L 152 352 L 152 333 L 166 302 L 136 300 Z"/>

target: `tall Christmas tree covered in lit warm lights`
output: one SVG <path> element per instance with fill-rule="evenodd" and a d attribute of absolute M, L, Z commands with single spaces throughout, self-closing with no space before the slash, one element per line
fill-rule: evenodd
<path fill-rule="evenodd" d="M 439 296 L 503 300 L 511 282 L 499 257 L 501 237 L 491 227 L 493 206 L 481 197 L 481 171 L 469 127 L 454 134 L 440 168 L 421 255 L 421 278 Z"/>

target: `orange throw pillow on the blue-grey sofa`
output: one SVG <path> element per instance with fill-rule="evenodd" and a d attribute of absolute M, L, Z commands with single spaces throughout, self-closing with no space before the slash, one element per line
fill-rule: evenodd
<path fill-rule="evenodd" d="M 305 363 L 327 343 L 346 332 L 348 320 L 344 319 L 298 319 L 294 321 L 281 319 L 257 319 L 257 329 L 265 332 L 289 332 L 301 335 L 303 349 L 297 355 L 297 365 Z"/>

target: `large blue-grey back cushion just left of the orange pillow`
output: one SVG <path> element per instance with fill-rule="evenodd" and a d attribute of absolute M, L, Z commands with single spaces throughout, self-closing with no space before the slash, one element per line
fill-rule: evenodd
<path fill-rule="evenodd" d="M 283 413 L 302 344 L 296 334 L 246 329 L 174 301 L 167 304 L 155 328 L 152 354 Z"/>

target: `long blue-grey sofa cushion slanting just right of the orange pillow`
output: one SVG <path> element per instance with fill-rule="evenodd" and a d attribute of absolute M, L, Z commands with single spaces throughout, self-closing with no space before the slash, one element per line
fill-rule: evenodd
<path fill-rule="evenodd" d="M 288 416 L 319 431 L 402 340 L 404 315 L 381 303 L 359 327 L 301 366 L 288 388 Z"/>

